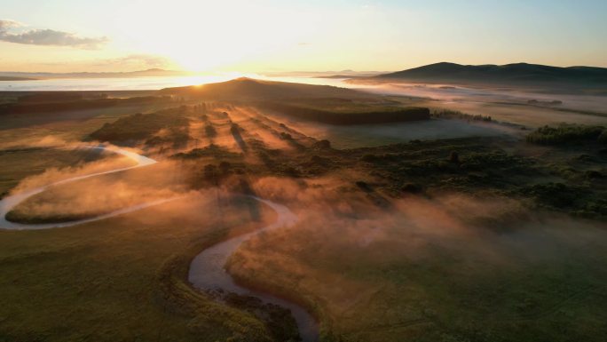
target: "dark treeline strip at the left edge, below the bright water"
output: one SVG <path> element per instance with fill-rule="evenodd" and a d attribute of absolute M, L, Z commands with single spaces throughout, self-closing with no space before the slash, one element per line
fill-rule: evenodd
<path fill-rule="evenodd" d="M 98 109 L 116 106 L 139 105 L 170 100 L 167 96 L 144 96 L 128 99 L 69 99 L 63 102 L 42 102 L 38 99 L 26 99 L 17 103 L 0 105 L 0 115 L 29 114 L 29 113 L 56 113 L 70 110 Z"/>

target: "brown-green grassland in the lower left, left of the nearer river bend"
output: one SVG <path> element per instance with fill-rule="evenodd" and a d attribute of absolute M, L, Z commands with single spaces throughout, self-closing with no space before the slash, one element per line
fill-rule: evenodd
<path fill-rule="evenodd" d="M 254 314 L 216 304 L 183 274 L 204 246 L 263 224 L 248 201 L 190 199 L 79 227 L 1 231 L 0 339 L 271 340 Z M 224 216 L 200 213 L 217 205 Z"/>

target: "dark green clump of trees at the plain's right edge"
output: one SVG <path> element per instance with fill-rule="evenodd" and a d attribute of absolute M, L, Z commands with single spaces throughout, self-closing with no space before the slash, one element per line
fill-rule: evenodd
<path fill-rule="evenodd" d="M 540 145 L 599 142 L 607 144 L 607 130 L 603 126 L 561 124 L 544 126 L 527 135 L 527 141 Z"/>

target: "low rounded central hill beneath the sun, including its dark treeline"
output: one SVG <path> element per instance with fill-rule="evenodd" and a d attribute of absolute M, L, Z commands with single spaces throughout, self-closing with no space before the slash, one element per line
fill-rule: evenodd
<path fill-rule="evenodd" d="M 394 123 L 430 119 L 430 110 L 403 107 L 382 96 L 329 85 L 272 82 L 251 78 L 167 88 L 162 95 L 246 102 L 262 109 L 319 123 Z"/>

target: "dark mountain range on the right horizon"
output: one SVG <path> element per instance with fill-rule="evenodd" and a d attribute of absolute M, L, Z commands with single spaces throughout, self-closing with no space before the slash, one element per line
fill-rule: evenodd
<path fill-rule="evenodd" d="M 607 84 L 607 68 L 560 68 L 527 63 L 473 66 L 442 62 L 367 79 L 489 84 Z"/>

